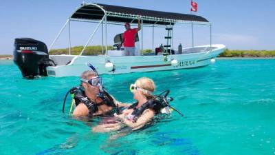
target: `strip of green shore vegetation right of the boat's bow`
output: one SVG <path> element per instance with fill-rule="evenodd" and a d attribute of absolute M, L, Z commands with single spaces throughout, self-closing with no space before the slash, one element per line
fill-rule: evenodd
<path fill-rule="evenodd" d="M 228 50 L 219 57 L 275 57 L 275 50 Z"/>

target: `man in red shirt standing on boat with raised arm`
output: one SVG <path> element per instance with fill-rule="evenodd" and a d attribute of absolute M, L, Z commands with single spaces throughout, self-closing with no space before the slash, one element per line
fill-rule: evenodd
<path fill-rule="evenodd" d="M 139 30 L 141 30 L 140 19 L 137 20 L 137 28 L 131 28 L 130 23 L 125 23 L 126 31 L 123 33 L 123 39 L 120 46 L 124 46 L 125 56 L 135 55 L 135 35 Z"/>

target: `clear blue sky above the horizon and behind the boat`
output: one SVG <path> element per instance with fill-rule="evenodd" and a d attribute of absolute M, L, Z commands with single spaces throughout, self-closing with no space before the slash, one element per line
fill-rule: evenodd
<path fill-rule="evenodd" d="M 151 0 L 104 0 L 85 1 L 106 3 L 117 6 L 162 10 L 166 12 L 190 13 L 190 1 L 151 1 Z M 67 17 L 82 1 L 13 1 L 2 0 L 0 5 L 0 54 L 12 54 L 14 39 L 31 37 L 49 47 Z M 222 43 L 229 49 L 275 50 L 275 1 L 202 1 L 197 0 L 198 12 L 212 22 L 212 42 Z M 84 45 L 95 25 L 72 23 L 72 45 Z M 121 26 L 108 27 L 108 43 L 113 44 L 113 36 L 123 32 Z M 65 30 L 67 32 L 67 30 Z M 190 25 L 175 28 L 175 46 L 182 43 L 191 45 Z M 61 35 L 54 48 L 68 45 L 67 33 Z M 165 30 L 155 30 L 155 45 L 164 43 Z M 151 28 L 144 28 L 144 48 L 151 48 Z M 195 26 L 195 45 L 209 44 L 209 28 Z M 100 31 L 90 45 L 100 44 Z"/>

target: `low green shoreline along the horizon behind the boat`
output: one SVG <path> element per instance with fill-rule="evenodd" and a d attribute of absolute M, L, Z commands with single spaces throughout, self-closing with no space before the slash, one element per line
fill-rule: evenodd
<path fill-rule="evenodd" d="M 74 46 L 71 48 L 71 54 L 78 55 L 80 54 L 83 46 Z M 108 50 L 113 49 L 113 46 L 107 46 Z M 146 49 L 143 50 L 143 53 L 151 53 L 152 50 Z M 98 55 L 104 54 L 105 47 L 102 51 L 101 45 L 91 45 L 87 46 L 83 55 Z M 50 54 L 52 55 L 60 55 L 60 54 L 69 54 L 68 48 L 54 49 L 50 50 Z M 218 57 L 221 58 L 275 58 L 275 50 L 229 50 L 225 49 L 223 53 L 221 53 Z M 12 59 L 12 55 L 0 55 L 0 60 L 10 60 Z"/>

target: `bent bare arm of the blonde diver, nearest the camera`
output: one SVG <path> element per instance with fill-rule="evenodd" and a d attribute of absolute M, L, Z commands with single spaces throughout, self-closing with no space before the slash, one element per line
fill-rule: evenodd
<path fill-rule="evenodd" d="M 126 124 L 127 126 L 131 127 L 132 130 L 140 129 L 143 127 L 148 121 L 150 121 L 155 116 L 155 112 L 151 109 L 145 110 L 140 118 L 137 119 L 136 122 L 132 122 L 125 117 L 118 116 L 122 123 Z"/>

